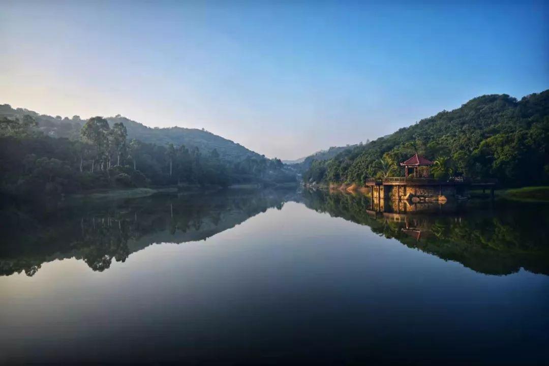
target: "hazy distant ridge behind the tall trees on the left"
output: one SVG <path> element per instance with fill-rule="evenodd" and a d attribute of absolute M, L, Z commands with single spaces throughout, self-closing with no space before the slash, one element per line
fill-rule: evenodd
<path fill-rule="evenodd" d="M 86 123 L 86 120 L 82 120 L 80 116 L 71 118 L 53 117 L 40 115 L 35 111 L 23 108 L 13 109 L 8 104 L 0 105 L 0 117 L 13 119 L 14 117 L 22 118 L 24 115 L 32 116 L 38 123 L 37 129 L 51 137 L 79 139 L 80 128 Z M 222 159 L 229 161 L 240 161 L 247 157 L 260 157 L 260 154 L 238 143 L 201 129 L 183 127 L 150 128 L 120 115 L 107 117 L 107 121 L 111 126 L 116 122 L 122 122 L 126 126 L 129 139 L 137 139 L 145 143 L 154 143 L 161 146 L 172 143 L 175 146 L 184 145 L 189 149 L 197 147 L 203 153 L 210 153 L 210 151 L 216 149 Z"/>

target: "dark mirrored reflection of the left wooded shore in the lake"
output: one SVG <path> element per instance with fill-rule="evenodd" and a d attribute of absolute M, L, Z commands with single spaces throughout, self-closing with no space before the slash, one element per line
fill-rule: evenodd
<path fill-rule="evenodd" d="M 270 207 L 281 207 L 294 194 L 266 190 L 161 195 L 51 211 L 3 210 L 0 219 L 7 225 L 0 234 L 8 245 L 0 247 L 0 275 L 24 271 L 32 276 L 42 263 L 70 257 L 104 271 L 113 260 L 124 262 L 152 243 L 209 238 Z"/>

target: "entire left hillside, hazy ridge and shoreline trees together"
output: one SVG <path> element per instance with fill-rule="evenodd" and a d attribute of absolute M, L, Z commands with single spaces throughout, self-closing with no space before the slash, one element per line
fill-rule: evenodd
<path fill-rule="evenodd" d="M 148 128 L 121 116 L 82 123 L 0 106 L 0 195 L 42 200 L 97 189 L 297 183 L 279 159 L 209 132 Z"/>

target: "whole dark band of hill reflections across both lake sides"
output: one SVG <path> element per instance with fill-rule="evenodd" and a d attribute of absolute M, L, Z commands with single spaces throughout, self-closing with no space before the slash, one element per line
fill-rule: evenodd
<path fill-rule="evenodd" d="M 34 275 L 45 262 L 74 257 L 93 271 L 154 243 L 205 240 L 270 207 L 296 201 L 309 209 L 366 225 L 374 233 L 452 260 L 476 272 L 549 274 L 549 206 L 507 201 L 370 200 L 362 194 L 228 191 L 88 201 L 61 207 L 0 211 L 0 275 Z M 335 233 L 337 234 L 337 233 Z"/>

